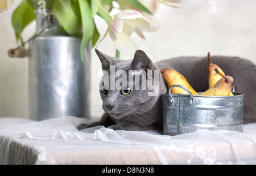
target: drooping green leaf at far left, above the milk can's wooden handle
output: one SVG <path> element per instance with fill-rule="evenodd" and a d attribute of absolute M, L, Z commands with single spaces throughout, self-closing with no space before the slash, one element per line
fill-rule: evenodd
<path fill-rule="evenodd" d="M 34 9 L 23 0 L 11 17 L 11 23 L 13 24 L 17 41 L 19 39 L 22 40 L 20 35 L 23 29 L 33 20 L 35 20 Z"/>

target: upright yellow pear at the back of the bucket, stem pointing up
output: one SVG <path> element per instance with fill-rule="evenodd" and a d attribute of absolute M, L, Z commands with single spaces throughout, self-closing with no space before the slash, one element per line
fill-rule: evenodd
<path fill-rule="evenodd" d="M 220 74 L 218 74 L 214 69 L 217 69 L 222 75 L 225 76 L 224 71 L 221 70 L 221 68 L 219 66 L 217 66 L 216 64 L 213 64 L 212 61 L 210 61 L 210 52 L 208 52 L 207 55 L 208 58 L 208 71 L 209 71 L 209 88 L 213 87 L 214 84 L 217 83 L 218 80 L 220 80 L 222 78 L 222 76 Z M 230 92 L 229 96 L 233 96 L 233 93 Z"/>

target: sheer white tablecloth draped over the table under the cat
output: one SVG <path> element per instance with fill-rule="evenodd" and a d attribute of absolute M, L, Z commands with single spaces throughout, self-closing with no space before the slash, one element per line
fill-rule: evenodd
<path fill-rule="evenodd" d="M 87 122 L 0 118 L 0 164 L 256 164 L 256 123 L 244 125 L 243 132 L 167 136 L 103 126 L 76 129 Z"/>

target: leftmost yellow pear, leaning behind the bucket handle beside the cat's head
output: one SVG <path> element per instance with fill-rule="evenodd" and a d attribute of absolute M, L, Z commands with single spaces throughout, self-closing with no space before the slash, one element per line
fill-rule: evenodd
<path fill-rule="evenodd" d="M 162 72 L 162 76 L 164 81 L 166 81 L 168 88 L 170 88 L 172 85 L 178 84 L 183 85 L 184 87 L 188 88 L 189 91 L 193 95 L 199 95 L 188 83 L 188 81 L 184 78 L 183 75 L 181 75 L 179 72 L 173 70 L 172 68 L 164 68 L 160 69 L 160 72 Z M 172 89 L 172 93 L 181 93 L 181 94 L 188 94 L 187 91 L 185 91 L 182 88 L 175 87 Z"/>

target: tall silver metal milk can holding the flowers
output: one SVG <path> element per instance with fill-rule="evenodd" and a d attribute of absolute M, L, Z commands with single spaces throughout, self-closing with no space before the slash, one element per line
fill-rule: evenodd
<path fill-rule="evenodd" d="M 29 42 L 30 119 L 90 118 L 90 46 L 82 63 L 81 40 L 67 35 L 51 11 L 36 14 L 36 22 L 36 33 L 43 32 Z"/>

